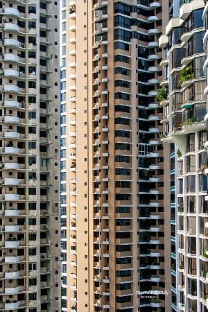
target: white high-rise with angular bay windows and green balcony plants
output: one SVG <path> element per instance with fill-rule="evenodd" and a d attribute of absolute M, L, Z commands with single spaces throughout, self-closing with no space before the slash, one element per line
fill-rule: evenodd
<path fill-rule="evenodd" d="M 175 3 L 177 1 L 174 1 Z M 175 193 L 175 311 L 207 311 L 207 131 L 204 1 L 180 1 L 159 38 L 164 48 L 164 141 L 172 141 Z M 203 23 L 204 20 L 204 23 Z M 206 115 L 207 116 L 207 115 Z M 204 123 L 205 118 L 205 123 Z M 173 311 L 174 311 L 173 310 Z"/>

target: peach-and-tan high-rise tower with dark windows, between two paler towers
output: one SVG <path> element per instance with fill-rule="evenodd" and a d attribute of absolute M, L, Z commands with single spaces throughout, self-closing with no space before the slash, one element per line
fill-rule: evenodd
<path fill-rule="evenodd" d="M 62 0 L 62 311 L 170 311 L 168 19 L 169 1 Z"/>

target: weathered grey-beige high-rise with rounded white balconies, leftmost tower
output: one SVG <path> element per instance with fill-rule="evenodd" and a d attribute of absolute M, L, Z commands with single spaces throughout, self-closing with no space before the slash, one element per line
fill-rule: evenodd
<path fill-rule="evenodd" d="M 59 6 L 0 14 L 0 310 L 59 312 Z"/>

